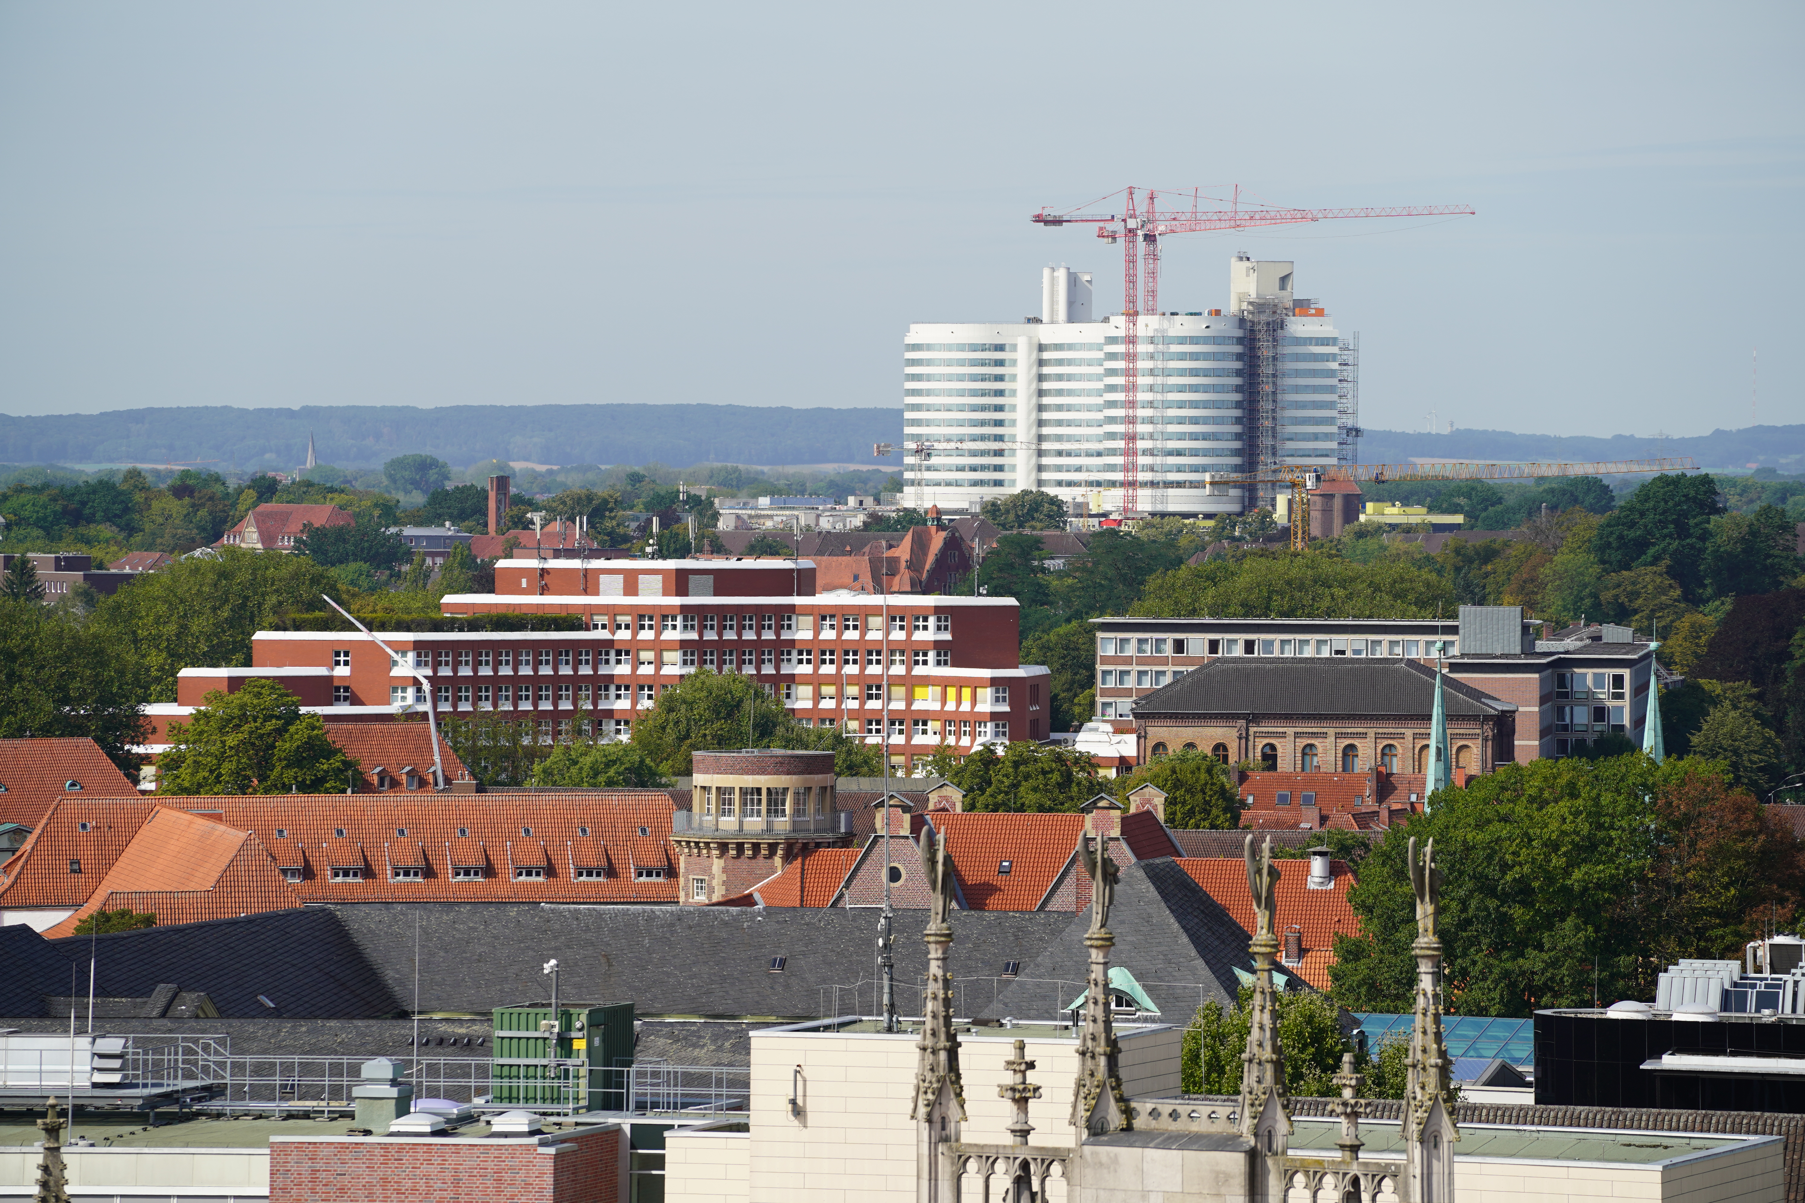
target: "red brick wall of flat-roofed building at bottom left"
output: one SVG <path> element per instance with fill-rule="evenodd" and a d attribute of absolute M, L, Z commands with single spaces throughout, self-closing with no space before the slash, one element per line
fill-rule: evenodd
<path fill-rule="evenodd" d="M 619 1203 L 619 1140 L 616 1127 L 518 1140 L 276 1136 L 269 1203 Z"/>

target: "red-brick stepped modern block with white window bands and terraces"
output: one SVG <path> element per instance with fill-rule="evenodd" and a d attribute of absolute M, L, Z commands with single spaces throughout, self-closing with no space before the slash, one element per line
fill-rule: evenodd
<path fill-rule="evenodd" d="M 359 633 L 258 631 L 251 669 L 224 687 L 292 676 L 310 703 L 330 685 L 330 705 L 357 718 L 430 703 L 532 720 L 543 738 L 585 711 L 625 736 L 661 691 L 713 669 L 754 678 L 805 725 L 883 741 L 901 770 L 940 743 L 1049 734 L 1047 669 L 1016 660 L 1014 599 L 816 593 L 807 559 L 509 559 L 495 586 L 442 601 L 473 629 L 379 633 L 393 658 Z M 560 615 L 561 629 L 484 629 L 500 613 Z"/>

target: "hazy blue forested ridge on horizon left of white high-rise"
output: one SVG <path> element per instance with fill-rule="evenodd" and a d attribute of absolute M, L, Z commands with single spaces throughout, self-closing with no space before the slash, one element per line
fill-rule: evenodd
<path fill-rule="evenodd" d="M 314 436 L 321 464 L 375 465 L 422 451 L 464 467 L 531 464 L 874 464 L 902 440 L 899 409 L 754 406 L 197 406 L 61 417 L 0 415 L 0 464 L 162 464 L 292 469 Z"/>

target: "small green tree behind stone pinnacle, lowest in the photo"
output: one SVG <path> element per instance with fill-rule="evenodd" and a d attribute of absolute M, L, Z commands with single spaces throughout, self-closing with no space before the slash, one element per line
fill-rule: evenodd
<path fill-rule="evenodd" d="M 1341 1073 L 1341 1055 L 1354 1053 L 1356 1070 L 1366 1070 L 1366 1057 L 1354 1041 L 1341 1033 L 1341 1010 L 1327 994 L 1316 990 L 1278 992 L 1278 1042 L 1285 1050 L 1285 1093 L 1301 1098 L 1339 1095 L 1334 1075 Z M 1253 988 L 1242 987 L 1233 1008 L 1222 1003 L 1204 1003 L 1184 1030 L 1180 1068 L 1182 1089 L 1188 1095 L 1238 1095 L 1242 1086 L 1242 1053 L 1247 1051 L 1247 1030 L 1253 1010 Z M 1384 1098 L 1374 1091 L 1366 1098 Z M 1402 1097 L 1402 1089 L 1395 1097 Z"/>

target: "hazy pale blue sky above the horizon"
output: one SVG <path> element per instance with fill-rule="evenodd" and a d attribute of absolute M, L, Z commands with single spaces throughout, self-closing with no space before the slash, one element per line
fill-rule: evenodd
<path fill-rule="evenodd" d="M 1236 249 L 1365 422 L 1805 422 L 1800 4 L 0 2 L 0 413 L 901 404 L 908 321 L 1121 258 L 1125 184 L 1455 222 Z M 1132 14 L 1132 23 L 1130 23 Z"/>

